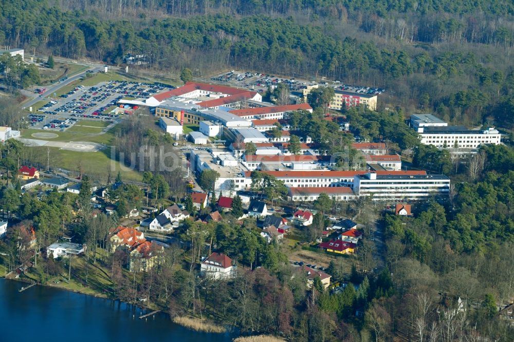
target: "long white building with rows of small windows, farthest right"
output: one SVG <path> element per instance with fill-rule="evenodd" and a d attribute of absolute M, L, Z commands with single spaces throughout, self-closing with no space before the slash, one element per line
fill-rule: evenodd
<path fill-rule="evenodd" d="M 497 129 L 472 130 L 464 126 L 418 127 L 424 145 L 437 148 L 478 148 L 482 144 L 499 145 L 501 134 Z"/>

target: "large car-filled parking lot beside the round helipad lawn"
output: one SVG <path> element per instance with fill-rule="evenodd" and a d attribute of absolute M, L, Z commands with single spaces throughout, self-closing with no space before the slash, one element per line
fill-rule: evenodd
<path fill-rule="evenodd" d="M 149 98 L 173 87 L 162 84 L 127 81 L 101 82 L 95 86 L 77 85 L 75 89 L 52 99 L 28 116 L 31 128 L 64 131 L 80 120 L 113 122 L 125 110 L 114 112 L 118 101 L 126 98 Z"/>

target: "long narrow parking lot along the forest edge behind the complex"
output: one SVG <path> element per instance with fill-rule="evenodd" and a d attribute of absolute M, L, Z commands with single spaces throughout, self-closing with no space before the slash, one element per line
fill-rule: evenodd
<path fill-rule="evenodd" d="M 315 82 L 309 81 L 305 79 L 295 79 L 295 78 L 280 78 L 273 74 L 263 74 L 259 72 L 244 72 L 244 71 L 236 71 L 231 70 L 229 72 L 224 72 L 222 74 L 216 75 L 212 77 L 211 80 L 217 82 L 224 82 L 228 84 L 232 84 L 235 86 L 240 86 L 244 88 L 249 88 L 257 91 L 266 91 L 269 87 L 274 88 L 280 83 L 287 84 L 291 91 L 301 92 L 302 89 L 305 89 L 307 86 L 318 84 L 320 87 L 333 87 L 334 89 L 344 90 L 355 92 L 356 94 L 381 94 L 386 89 L 378 88 L 378 87 L 367 87 L 362 85 L 349 85 L 342 84 L 339 81 L 335 82 Z"/>

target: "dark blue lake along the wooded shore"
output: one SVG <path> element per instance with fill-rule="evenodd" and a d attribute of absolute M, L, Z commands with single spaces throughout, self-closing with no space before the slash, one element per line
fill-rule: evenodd
<path fill-rule="evenodd" d="M 163 313 L 139 319 L 149 311 L 120 301 L 43 286 L 18 292 L 24 285 L 0 279 L 2 341 L 231 341 L 229 334 L 176 325 Z"/>

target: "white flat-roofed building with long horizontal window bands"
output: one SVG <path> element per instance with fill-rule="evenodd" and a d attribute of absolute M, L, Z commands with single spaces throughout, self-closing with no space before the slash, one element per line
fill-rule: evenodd
<path fill-rule="evenodd" d="M 450 179 L 444 175 L 384 175 L 378 172 L 355 175 L 353 190 L 357 196 L 373 200 L 423 200 L 448 196 Z"/>

